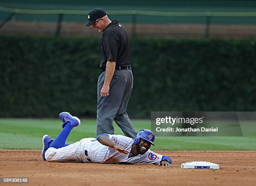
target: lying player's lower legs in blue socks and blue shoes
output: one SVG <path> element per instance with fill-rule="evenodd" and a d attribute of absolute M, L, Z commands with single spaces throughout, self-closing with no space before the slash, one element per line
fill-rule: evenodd
<path fill-rule="evenodd" d="M 43 156 L 44 160 L 46 160 L 45 152 L 48 148 L 54 147 L 55 149 L 59 149 L 59 148 L 64 147 L 64 146 L 68 146 L 69 144 L 65 144 L 65 142 L 67 140 L 67 137 L 69 136 L 70 131 L 75 126 L 78 126 L 78 125 L 81 124 L 79 118 L 73 117 L 68 112 L 61 112 L 61 114 L 59 114 L 59 117 L 63 121 L 63 125 L 62 125 L 63 129 L 61 130 L 59 135 L 56 137 L 56 139 L 53 140 L 48 135 L 43 136 L 43 139 L 42 139 L 42 142 L 43 142 L 42 156 Z"/>

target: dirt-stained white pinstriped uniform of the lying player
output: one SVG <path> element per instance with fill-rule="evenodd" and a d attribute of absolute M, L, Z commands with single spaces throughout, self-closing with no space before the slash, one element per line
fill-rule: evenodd
<path fill-rule="evenodd" d="M 123 149 L 131 151 L 133 139 L 122 135 L 108 134 L 113 143 Z M 118 164 L 118 163 L 150 163 L 158 164 L 162 155 L 156 154 L 150 149 L 145 154 L 128 157 L 129 154 L 123 154 L 111 147 L 102 145 L 95 138 L 84 138 L 80 141 L 70 144 L 59 149 L 53 147 L 47 149 L 45 158 L 47 161 L 60 162 L 77 162 L 77 163 L 102 163 L 102 164 Z"/>

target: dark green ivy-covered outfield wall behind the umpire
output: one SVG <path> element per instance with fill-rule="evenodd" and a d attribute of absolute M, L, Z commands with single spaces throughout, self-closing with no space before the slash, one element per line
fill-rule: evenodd
<path fill-rule="evenodd" d="M 0 117 L 95 117 L 101 38 L 0 37 Z M 256 40 L 131 40 L 130 117 L 256 111 Z M 106 111 L 107 112 L 107 111 Z"/>

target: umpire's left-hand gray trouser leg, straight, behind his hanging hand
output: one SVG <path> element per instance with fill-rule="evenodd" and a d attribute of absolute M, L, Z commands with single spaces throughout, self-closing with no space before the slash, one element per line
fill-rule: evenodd
<path fill-rule="evenodd" d="M 100 134 L 114 134 L 113 119 L 118 112 L 125 89 L 125 77 L 120 71 L 115 71 L 110 82 L 109 95 L 100 96 L 105 80 L 105 72 L 98 79 L 97 87 L 97 136 Z"/>

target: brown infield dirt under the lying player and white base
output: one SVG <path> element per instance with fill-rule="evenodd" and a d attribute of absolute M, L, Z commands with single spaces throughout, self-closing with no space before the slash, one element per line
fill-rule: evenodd
<path fill-rule="evenodd" d="M 256 151 L 155 152 L 170 156 L 173 166 L 47 162 L 40 150 L 0 150 L 0 177 L 28 177 L 28 185 L 40 186 L 256 185 Z M 220 169 L 181 169 L 188 161 L 210 161 Z"/>

